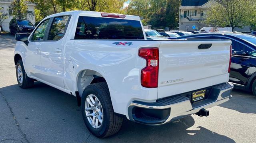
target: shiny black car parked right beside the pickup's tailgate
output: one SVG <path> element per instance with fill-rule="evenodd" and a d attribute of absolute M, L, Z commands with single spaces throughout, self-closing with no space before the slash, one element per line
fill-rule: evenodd
<path fill-rule="evenodd" d="M 232 41 L 229 81 L 256 95 L 256 37 L 240 33 L 202 33 L 172 39 L 224 39 Z"/>

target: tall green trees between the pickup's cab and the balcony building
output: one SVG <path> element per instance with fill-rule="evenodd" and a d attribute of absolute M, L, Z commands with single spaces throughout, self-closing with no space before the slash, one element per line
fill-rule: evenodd
<path fill-rule="evenodd" d="M 142 18 L 143 25 L 171 28 L 178 26 L 181 0 L 130 0 L 127 14 Z"/>

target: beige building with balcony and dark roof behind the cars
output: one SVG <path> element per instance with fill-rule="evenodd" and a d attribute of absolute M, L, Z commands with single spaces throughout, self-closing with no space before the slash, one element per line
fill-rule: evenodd
<path fill-rule="evenodd" d="M 179 12 L 179 29 L 194 30 L 192 26 L 196 26 L 196 30 L 207 26 L 202 24 L 205 20 L 206 10 L 218 4 L 214 0 L 182 0 Z"/>

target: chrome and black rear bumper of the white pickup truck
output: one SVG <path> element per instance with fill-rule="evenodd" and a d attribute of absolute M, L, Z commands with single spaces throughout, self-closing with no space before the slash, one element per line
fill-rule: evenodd
<path fill-rule="evenodd" d="M 171 96 L 154 103 L 134 101 L 128 108 L 129 118 L 132 121 L 144 124 L 164 124 L 230 100 L 233 87 L 233 84 L 229 82 L 213 86 L 205 100 L 193 104 L 190 102 L 190 98 L 184 96 L 185 94 Z"/>

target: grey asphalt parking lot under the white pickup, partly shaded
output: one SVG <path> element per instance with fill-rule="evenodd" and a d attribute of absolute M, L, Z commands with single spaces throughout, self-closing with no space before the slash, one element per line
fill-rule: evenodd
<path fill-rule="evenodd" d="M 0 35 L 0 143 L 253 143 L 256 96 L 233 90 L 233 98 L 196 115 L 161 126 L 125 120 L 120 131 L 98 139 L 86 129 L 76 98 L 41 82 L 17 85 L 14 36 Z"/>

